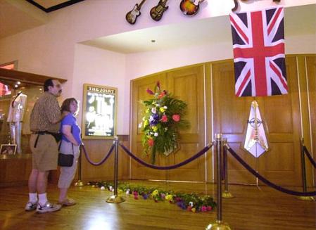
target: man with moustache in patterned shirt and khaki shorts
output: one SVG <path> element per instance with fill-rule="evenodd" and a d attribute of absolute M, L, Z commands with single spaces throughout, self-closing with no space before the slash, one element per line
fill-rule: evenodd
<path fill-rule="evenodd" d="M 49 170 L 57 169 L 58 131 L 61 122 L 61 108 L 57 97 L 61 96 L 61 83 L 56 79 L 44 82 L 44 94 L 39 97 L 30 116 L 30 148 L 32 151 L 32 172 L 30 174 L 29 201 L 26 211 L 39 213 L 55 212 L 61 205 L 47 200 L 46 187 Z M 38 193 L 38 200 L 37 200 Z"/>

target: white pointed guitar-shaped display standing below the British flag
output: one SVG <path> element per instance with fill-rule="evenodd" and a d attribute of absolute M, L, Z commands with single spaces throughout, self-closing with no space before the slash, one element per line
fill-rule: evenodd
<path fill-rule="evenodd" d="M 257 101 L 251 103 L 244 148 L 255 158 L 258 158 L 269 148 Z"/>

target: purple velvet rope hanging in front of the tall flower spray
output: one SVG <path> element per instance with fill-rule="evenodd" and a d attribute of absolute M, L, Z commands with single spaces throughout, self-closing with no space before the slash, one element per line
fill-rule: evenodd
<path fill-rule="evenodd" d="M 187 165 L 189 162 L 195 160 L 196 158 L 199 158 L 201 155 L 203 155 L 204 153 L 206 153 L 206 151 L 208 151 L 210 148 L 212 148 L 213 143 L 209 146 L 204 147 L 201 151 L 199 151 L 198 153 L 196 153 L 196 155 L 191 156 L 191 158 L 184 160 L 182 162 L 180 162 L 177 165 L 170 165 L 170 166 L 157 166 L 157 165 L 151 165 L 148 164 L 146 162 L 144 162 L 143 160 L 137 158 L 136 155 L 134 155 L 133 153 L 131 153 L 125 146 L 123 146 L 121 143 L 119 143 L 119 145 L 123 148 L 123 150 L 134 160 L 136 160 L 137 162 L 139 162 L 139 164 L 144 165 L 146 167 L 150 167 L 151 169 L 154 170 L 173 170 L 176 169 L 177 167 L 181 167 L 183 165 Z"/>

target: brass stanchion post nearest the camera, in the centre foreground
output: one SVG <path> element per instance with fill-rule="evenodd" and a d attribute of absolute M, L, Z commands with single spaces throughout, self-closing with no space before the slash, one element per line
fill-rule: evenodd
<path fill-rule="evenodd" d="M 217 219 L 206 227 L 206 230 L 231 230 L 229 225 L 222 222 L 222 134 L 215 134 L 217 155 Z"/>

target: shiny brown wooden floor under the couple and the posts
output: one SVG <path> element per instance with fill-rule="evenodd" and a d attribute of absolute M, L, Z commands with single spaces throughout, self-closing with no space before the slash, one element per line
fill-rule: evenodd
<path fill-rule="evenodd" d="M 132 181 L 160 186 L 161 189 L 208 193 L 215 196 L 213 184 Z M 298 188 L 296 188 L 298 190 Z M 316 203 L 274 191 L 266 186 L 229 186 L 235 198 L 223 199 L 222 219 L 231 229 L 316 229 Z M 49 199 L 56 202 L 56 185 L 49 186 Z M 72 187 L 70 197 L 77 205 L 58 212 L 37 214 L 25 212 L 27 186 L 0 189 L 0 229 L 205 229 L 216 219 L 213 212 L 192 213 L 167 202 L 134 200 L 109 204 L 110 192 L 91 186 Z"/>

